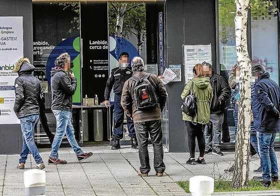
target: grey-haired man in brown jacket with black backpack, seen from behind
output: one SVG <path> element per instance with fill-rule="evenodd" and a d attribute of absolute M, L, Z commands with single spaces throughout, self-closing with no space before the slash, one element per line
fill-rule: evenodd
<path fill-rule="evenodd" d="M 151 170 L 148 152 L 148 138 L 150 134 L 154 149 L 154 169 L 156 171 L 156 176 L 163 176 L 165 164 L 163 163 L 161 112 L 166 104 L 167 92 L 158 76 L 154 74 L 148 75 L 146 73 L 144 70 L 144 61 L 141 57 L 134 57 L 131 66 L 133 78 L 138 82 L 139 80 L 143 80 L 144 76 L 147 76 L 147 79 L 154 89 L 154 93 L 158 97 L 158 103 L 156 105 L 147 109 L 137 109 L 137 98 L 134 96 L 136 81 L 129 79 L 124 83 L 121 105 L 129 118 L 133 118 L 134 120 L 135 131 L 139 142 L 138 153 L 141 164 L 138 175 L 142 177 L 148 176 Z M 141 93 L 141 98 L 143 100 L 148 100 L 150 95 L 147 94 L 147 89 L 142 89 L 142 91 L 143 94 Z"/>

